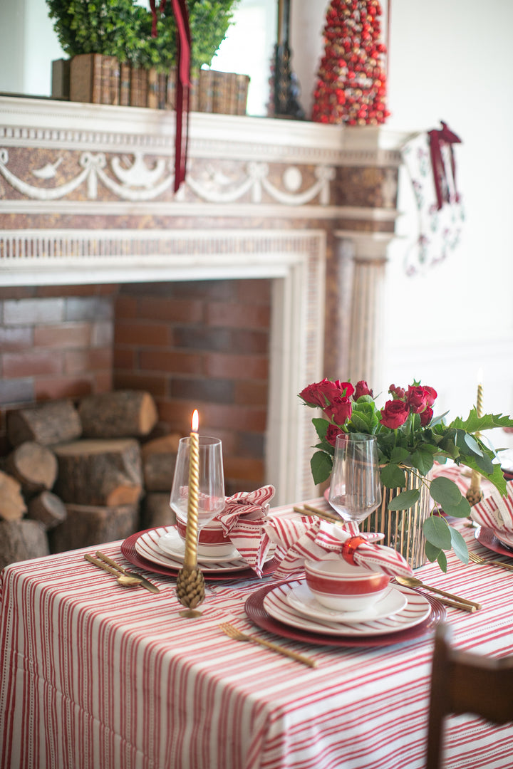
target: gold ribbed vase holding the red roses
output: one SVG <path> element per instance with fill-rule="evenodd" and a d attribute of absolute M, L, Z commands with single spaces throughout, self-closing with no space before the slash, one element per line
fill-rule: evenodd
<path fill-rule="evenodd" d="M 381 505 L 360 524 L 361 531 L 380 531 L 381 534 L 385 534 L 385 540 L 381 544 L 386 544 L 401 553 L 412 569 L 423 566 L 428 560 L 425 557 L 425 538 L 422 533 L 422 524 L 431 513 L 431 498 L 429 484 L 423 481 L 430 479 L 431 474 L 425 478 L 419 478 L 417 472 L 413 474 L 406 471 L 405 488 L 382 486 Z M 388 503 L 393 498 L 401 491 L 411 491 L 412 489 L 419 489 L 421 492 L 420 498 L 413 507 L 408 508 L 408 510 L 388 510 Z"/>

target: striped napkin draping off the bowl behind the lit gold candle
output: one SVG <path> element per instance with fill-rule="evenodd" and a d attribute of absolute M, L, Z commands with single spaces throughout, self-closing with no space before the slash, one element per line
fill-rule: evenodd
<path fill-rule="evenodd" d="M 261 577 L 271 545 L 264 526 L 274 495 L 275 487 L 270 484 L 256 491 L 238 491 L 226 498 L 225 509 L 216 516 L 225 534 L 258 577 Z"/>

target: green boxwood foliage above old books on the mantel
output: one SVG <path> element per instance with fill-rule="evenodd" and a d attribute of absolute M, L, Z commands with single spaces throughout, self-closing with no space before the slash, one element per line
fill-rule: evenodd
<path fill-rule="evenodd" d="M 210 65 L 225 39 L 237 0 L 187 0 L 192 66 Z M 69 56 L 101 53 L 145 68 L 168 70 L 176 64 L 176 23 L 171 3 L 152 14 L 135 0 L 46 0 L 63 51 Z"/>

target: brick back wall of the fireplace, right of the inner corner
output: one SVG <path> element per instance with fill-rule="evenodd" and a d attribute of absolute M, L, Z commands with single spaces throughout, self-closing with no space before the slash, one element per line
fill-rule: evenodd
<path fill-rule="evenodd" d="M 150 391 L 158 430 L 223 441 L 227 494 L 264 481 L 271 281 L 123 285 L 114 386 Z"/>

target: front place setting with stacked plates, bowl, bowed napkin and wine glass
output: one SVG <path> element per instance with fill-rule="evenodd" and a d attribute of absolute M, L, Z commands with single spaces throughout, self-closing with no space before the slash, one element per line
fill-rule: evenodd
<path fill-rule="evenodd" d="M 307 516 L 268 524 L 285 551 L 281 581 L 249 596 L 248 618 L 284 638 L 335 646 L 394 644 L 435 628 L 445 606 L 395 581 L 413 578 L 405 558 L 358 528 L 381 502 L 374 438 L 337 438 L 328 501 L 343 525 Z"/>

